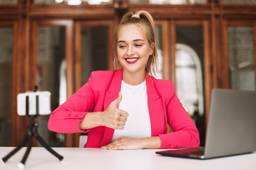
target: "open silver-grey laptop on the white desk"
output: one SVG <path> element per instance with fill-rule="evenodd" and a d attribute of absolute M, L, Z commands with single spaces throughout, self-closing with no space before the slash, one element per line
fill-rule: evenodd
<path fill-rule="evenodd" d="M 256 151 L 256 91 L 215 88 L 204 147 L 158 151 L 170 157 L 212 159 Z"/>

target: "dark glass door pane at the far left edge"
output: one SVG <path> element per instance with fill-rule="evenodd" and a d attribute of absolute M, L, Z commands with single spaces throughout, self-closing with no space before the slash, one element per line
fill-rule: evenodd
<path fill-rule="evenodd" d="M 13 27 L 0 27 L 0 146 L 11 146 Z"/>

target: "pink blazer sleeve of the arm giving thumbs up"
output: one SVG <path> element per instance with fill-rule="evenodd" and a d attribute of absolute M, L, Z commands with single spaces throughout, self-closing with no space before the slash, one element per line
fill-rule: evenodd
<path fill-rule="evenodd" d="M 58 133 L 83 132 L 79 122 L 94 107 L 92 76 L 76 93 L 58 106 L 49 116 L 48 129 Z"/>

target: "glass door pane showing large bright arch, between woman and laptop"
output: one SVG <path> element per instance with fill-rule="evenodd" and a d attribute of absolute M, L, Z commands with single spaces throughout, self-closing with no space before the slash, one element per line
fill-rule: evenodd
<path fill-rule="evenodd" d="M 176 94 L 200 131 L 201 145 L 204 145 L 203 44 L 202 26 L 176 27 Z"/>

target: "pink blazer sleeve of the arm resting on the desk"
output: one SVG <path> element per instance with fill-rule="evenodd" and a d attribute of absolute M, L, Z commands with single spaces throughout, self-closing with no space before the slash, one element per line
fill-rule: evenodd
<path fill-rule="evenodd" d="M 200 144 L 199 132 L 193 119 L 186 112 L 177 95 L 174 83 L 168 88 L 165 98 L 167 121 L 173 132 L 160 134 L 161 148 L 194 148 Z"/>

